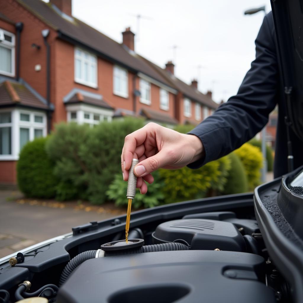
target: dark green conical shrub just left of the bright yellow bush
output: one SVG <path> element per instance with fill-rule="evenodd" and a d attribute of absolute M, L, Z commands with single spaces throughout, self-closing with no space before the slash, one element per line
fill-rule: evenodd
<path fill-rule="evenodd" d="M 248 191 L 247 176 L 244 166 L 235 153 L 230 153 L 228 158 L 231 161 L 231 169 L 228 172 L 223 195 L 240 194 Z"/>

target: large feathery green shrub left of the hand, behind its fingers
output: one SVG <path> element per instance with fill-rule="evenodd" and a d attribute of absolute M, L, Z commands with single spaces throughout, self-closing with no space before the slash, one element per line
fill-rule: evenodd
<path fill-rule="evenodd" d="M 102 122 L 94 128 L 59 124 L 46 146 L 60 180 L 57 198 L 88 199 L 102 204 L 105 192 L 121 174 L 121 151 L 126 135 L 144 126 L 141 119 Z"/>

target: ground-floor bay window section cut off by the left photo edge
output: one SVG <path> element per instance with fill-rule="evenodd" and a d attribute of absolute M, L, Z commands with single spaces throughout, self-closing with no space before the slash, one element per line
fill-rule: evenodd
<path fill-rule="evenodd" d="M 12 113 L 0 113 L 0 155 L 12 154 Z"/>

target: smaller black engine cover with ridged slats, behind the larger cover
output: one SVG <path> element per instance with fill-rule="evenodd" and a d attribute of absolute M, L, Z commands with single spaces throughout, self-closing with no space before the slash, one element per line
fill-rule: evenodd
<path fill-rule="evenodd" d="M 207 219 L 181 219 L 164 222 L 153 233 L 154 243 L 182 239 L 191 249 L 246 251 L 238 229 L 229 222 Z"/>

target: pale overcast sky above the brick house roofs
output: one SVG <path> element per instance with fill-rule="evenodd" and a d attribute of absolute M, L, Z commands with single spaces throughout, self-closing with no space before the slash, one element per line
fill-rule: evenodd
<path fill-rule="evenodd" d="M 117 42 L 128 26 L 138 34 L 135 15 L 142 15 L 135 51 L 161 67 L 173 60 L 178 78 L 186 83 L 198 78 L 199 90 L 212 90 L 216 102 L 237 93 L 255 57 L 264 13 L 243 12 L 263 5 L 271 10 L 269 0 L 72 0 L 72 5 L 76 18 Z"/>

